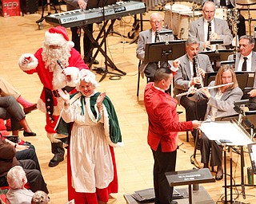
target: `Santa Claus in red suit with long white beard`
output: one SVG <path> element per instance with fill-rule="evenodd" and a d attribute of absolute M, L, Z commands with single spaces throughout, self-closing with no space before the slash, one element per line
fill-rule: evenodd
<path fill-rule="evenodd" d="M 52 27 L 45 33 L 42 48 L 36 53 L 25 53 L 20 57 L 18 65 L 28 74 L 38 73 L 43 88 L 38 109 L 46 113 L 46 132 L 51 142 L 51 151 L 54 157 L 50 159 L 49 167 L 55 167 L 64 160 L 62 135 L 54 130 L 64 101 L 58 96 L 57 89 L 62 88 L 67 92 L 76 92 L 74 81 L 79 70 L 89 69 L 82 60 L 74 43 L 69 41 L 66 28 Z"/>

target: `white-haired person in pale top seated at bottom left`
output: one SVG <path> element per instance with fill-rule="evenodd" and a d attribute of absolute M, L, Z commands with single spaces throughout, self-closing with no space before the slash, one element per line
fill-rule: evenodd
<path fill-rule="evenodd" d="M 20 166 L 15 166 L 8 171 L 7 182 L 10 186 L 6 194 L 8 204 L 30 204 L 34 193 L 25 188 L 26 173 Z"/>

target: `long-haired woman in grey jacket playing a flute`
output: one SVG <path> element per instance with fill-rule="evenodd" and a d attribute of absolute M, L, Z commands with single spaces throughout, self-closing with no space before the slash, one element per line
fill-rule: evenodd
<path fill-rule="evenodd" d="M 215 81 L 210 82 L 209 87 L 218 86 L 220 84 L 234 84 L 222 86 L 219 88 L 208 89 L 202 88 L 199 92 L 194 92 L 196 88 L 193 86 L 189 92 L 194 92 L 192 96 L 189 95 L 190 100 L 207 101 L 207 109 L 205 120 L 214 121 L 217 117 L 230 116 L 236 114 L 234 111 L 234 101 L 240 100 L 242 97 L 242 90 L 238 87 L 238 81 L 234 73 L 234 69 L 229 65 L 222 66 L 215 77 Z M 211 158 L 210 158 L 211 152 Z M 201 139 L 201 162 L 204 168 L 218 166 L 218 171 L 215 175 L 216 180 L 223 178 L 222 169 L 222 146 L 215 141 L 210 140 L 202 133 Z"/>

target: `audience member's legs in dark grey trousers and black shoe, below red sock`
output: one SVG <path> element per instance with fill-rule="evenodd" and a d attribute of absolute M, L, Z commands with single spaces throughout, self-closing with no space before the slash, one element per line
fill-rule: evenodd
<path fill-rule="evenodd" d="M 24 128 L 24 136 L 35 136 L 36 133 L 31 131 L 29 125 L 26 122 L 26 116 L 22 112 L 22 108 L 19 106 L 14 96 L 0 97 L 0 118 L 3 120 L 10 119 L 11 129 L 13 135 L 18 135 L 18 130 Z"/>

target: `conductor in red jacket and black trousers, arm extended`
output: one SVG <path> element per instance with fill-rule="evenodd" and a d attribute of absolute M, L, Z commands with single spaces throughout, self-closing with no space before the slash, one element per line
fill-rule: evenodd
<path fill-rule="evenodd" d="M 144 104 L 149 119 L 147 143 L 154 157 L 154 194 L 156 204 L 174 204 L 173 187 L 165 173 L 175 171 L 178 147 L 178 131 L 198 128 L 198 120 L 179 122 L 176 111 L 177 100 L 165 91 L 170 88 L 173 73 L 170 69 L 158 69 L 154 83 L 146 85 Z"/>

